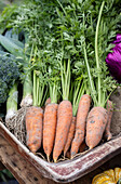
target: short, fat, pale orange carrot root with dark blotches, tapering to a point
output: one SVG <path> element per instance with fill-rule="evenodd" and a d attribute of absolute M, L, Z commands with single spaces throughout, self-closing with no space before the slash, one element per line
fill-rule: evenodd
<path fill-rule="evenodd" d="M 104 107 L 93 107 L 89 113 L 85 142 L 90 149 L 100 142 L 107 120 L 108 113 Z"/>

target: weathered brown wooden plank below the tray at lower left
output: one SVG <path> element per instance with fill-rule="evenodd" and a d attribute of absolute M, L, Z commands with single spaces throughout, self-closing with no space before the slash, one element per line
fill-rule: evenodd
<path fill-rule="evenodd" d="M 11 144 L 0 135 L 0 160 L 21 184 L 54 184 L 45 180 L 38 170 L 21 156 Z"/>

